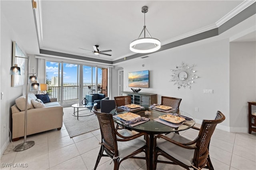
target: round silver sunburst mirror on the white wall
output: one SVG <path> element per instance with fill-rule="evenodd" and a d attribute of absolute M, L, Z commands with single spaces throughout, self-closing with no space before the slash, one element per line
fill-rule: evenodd
<path fill-rule="evenodd" d="M 171 72 L 170 82 L 174 82 L 174 85 L 177 85 L 178 89 L 182 87 L 191 89 L 191 85 L 198 78 L 196 70 L 194 70 L 194 65 L 188 66 L 188 64 L 184 64 L 183 62 L 180 66 L 176 66 L 175 70 L 172 69 Z"/>

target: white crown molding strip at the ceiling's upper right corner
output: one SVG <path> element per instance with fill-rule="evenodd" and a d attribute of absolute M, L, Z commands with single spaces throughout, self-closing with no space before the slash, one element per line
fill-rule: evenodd
<path fill-rule="evenodd" d="M 255 0 L 245 0 L 244 2 L 239 4 L 236 8 L 234 8 L 232 11 L 230 11 L 228 14 L 226 14 L 224 17 L 220 18 L 220 20 L 216 22 L 217 27 L 220 27 L 220 25 L 226 23 L 226 21 L 230 20 L 231 18 L 248 8 L 248 6 L 252 5 L 254 2 Z"/>

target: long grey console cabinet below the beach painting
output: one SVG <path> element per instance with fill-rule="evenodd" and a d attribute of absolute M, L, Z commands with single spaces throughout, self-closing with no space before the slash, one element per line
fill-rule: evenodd
<path fill-rule="evenodd" d="M 157 104 L 157 94 L 152 93 L 134 93 L 134 92 L 122 92 L 122 94 L 126 96 L 131 96 L 132 98 L 132 104 L 138 104 L 138 105 L 146 105 L 150 106 L 152 104 Z"/>

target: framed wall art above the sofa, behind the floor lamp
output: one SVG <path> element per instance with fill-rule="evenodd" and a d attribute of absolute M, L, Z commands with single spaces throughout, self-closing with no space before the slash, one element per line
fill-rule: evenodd
<path fill-rule="evenodd" d="M 16 57 L 15 57 L 16 56 Z M 25 75 L 25 59 L 20 57 L 26 57 L 22 52 L 16 41 L 12 41 L 12 65 L 17 64 L 20 67 L 21 75 L 12 75 L 12 87 L 24 85 Z"/>

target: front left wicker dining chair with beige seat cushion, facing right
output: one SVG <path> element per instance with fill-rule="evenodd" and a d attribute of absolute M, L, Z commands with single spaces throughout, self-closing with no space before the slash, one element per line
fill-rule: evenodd
<path fill-rule="evenodd" d="M 113 159 L 114 170 L 118 170 L 120 163 L 128 158 L 144 159 L 148 165 L 149 138 L 146 133 L 135 133 L 127 129 L 116 131 L 112 114 L 98 112 L 95 106 L 92 110 L 98 117 L 101 133 L 100 152 L 94 170 L 96 170 L 102 156 L 109 156 Z M 104 151 L 106 154 L 103 153 Z M 141 152 L 144 152 L 144 155 L 138 156 L 137 154 Z"/>

